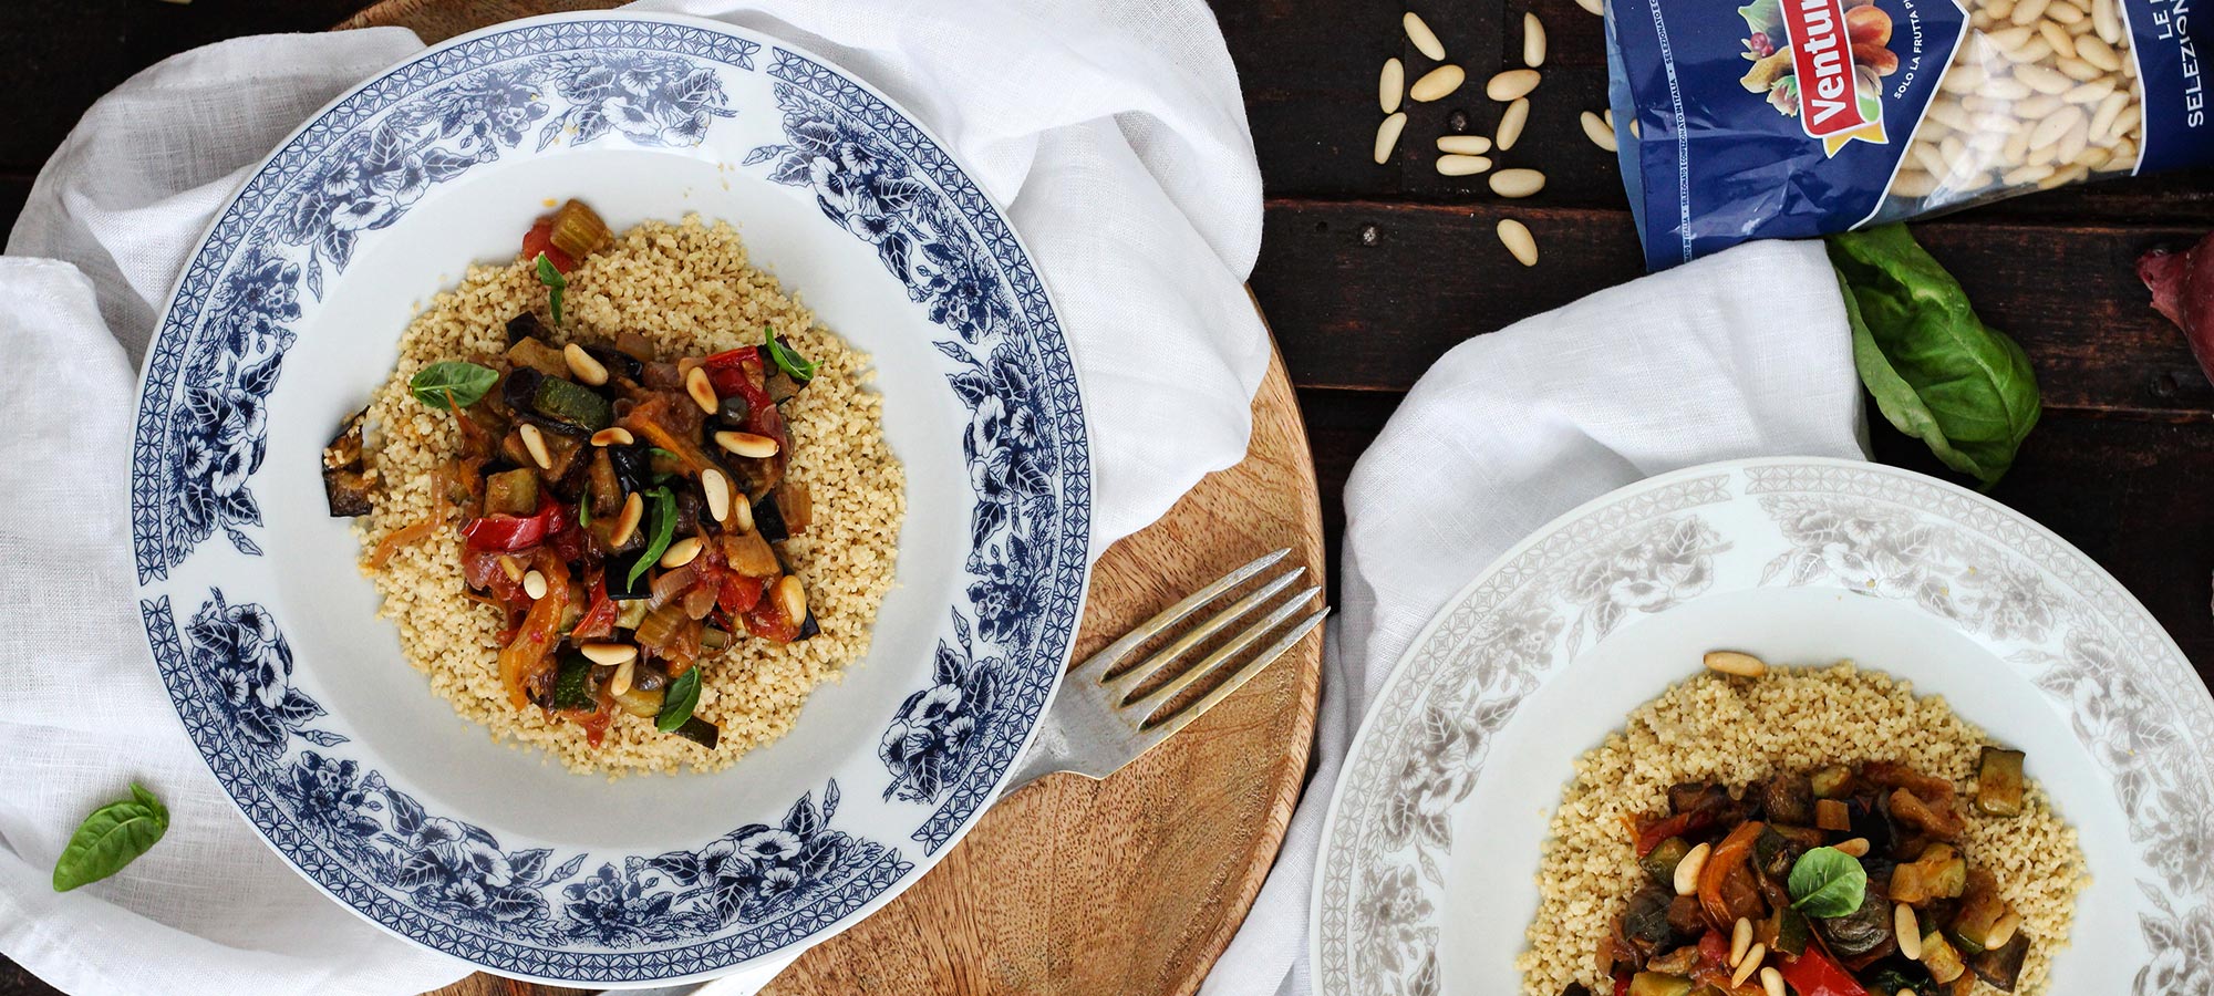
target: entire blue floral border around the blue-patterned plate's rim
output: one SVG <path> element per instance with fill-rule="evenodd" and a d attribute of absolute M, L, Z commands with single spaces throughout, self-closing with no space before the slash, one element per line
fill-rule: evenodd
<path fill-rule="evenodd" d="M 210 587 L 179 626 L 170 595 L 146 589 L 215 531 L 237 553 L 261 553 L 244 529 L 261 525 L 246 480 L 266 454 L 266 403 L 297 339 L 299 290 L 319 299 L 325 266 L 343 270 L 359 232 L 394 224 L 430 186 L 518 148 L 531 128 L 536 148 L 602 135 L 700 142 L 735 111 L 697 62 L 753 71 L 757 49 L 666 20 L 562 18 L 396 66 L 308 122 L 248 179 L 186 266 L 146 363 L 133 542 L 148 644 L 188 735 L 303 874 L 370 919 L 498 972 L 580 983 L 711 972 L 832 925 L 917 863 L 830 826 L 837 781 L 777 826 L 598 870 L 587 870 L 589 854 L 556 863 L 549 848 L 503 850 L 485 828 L 427 812 L 350 757 L 348 737 L 321 724 L 323 706 L 292 686 L 292 651 L 268 611 Z M 937 232 L 914 241 L 914 279 L 901 277 L 930 319 L 956 332 L 937 345 L 956 365 L 948 378 L 972 412 L 965 456 L 981 465 L 965 564 L 976 626 L 952 611 L 934 686 L 912 695 L 899 722 L 943 728 L 950 713 L 934 704 L 948 682 L 974 722 L 932 784 L 886 790 L 937 806 L 912 834 L 932 854 L 990 803 L 1074 637 L 1089 549 L 1076 372 L 1014 232 L 941 146 L 804 55 L 777 51 L 775 77 L 788 115 L 815 104 L 897 155 L 917 179 L 903 206 Z M 976 637 L 999 653 L 976 653 Z"/>

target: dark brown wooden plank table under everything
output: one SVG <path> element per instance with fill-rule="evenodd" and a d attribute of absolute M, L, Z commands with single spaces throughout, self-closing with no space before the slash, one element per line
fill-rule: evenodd
<path fill-rule="evenodd" d="M 126 75 L 232 35 L 317 31 L 361 2 L 0 2 L 0 221 L 13 224 L 46 155 Z M 1579 111 L 1603 104 L 1599 18 L 1572 0 L 1417 7 L 1477 80 L 1519 53 L 1519 29 L 1501 29 L 1510 11 L 1534 9 L 1550 29 L 1545 84 L 1508 155 L 1550 175 L 1541 197 L 1512 206 L 1543 248 L 1534 270 L 1501 250 L 1492 224 L 1508 210 L 1468 181 L 1481 177 L 1430 166 L 1432 135 L 1492 131 L 1497 104 L 1479 86 L 1413 106 L 1397 162 L 1370 162 L 1377 66 L 1413 55 L 1397 4 L 1215 0 L 1266 179 L 1253 292 L 1300 385 L 1333 544 L 1346 471 L 1430 361 L 1641 272 L 1621 177 L 1576 126 Z M 2044 423 L 1993 496 L 2106 564 L 2203 677 L 2214 677 L 2214 513 L 2199 489 L 2214 487 L 2214 387 L 2145 305 L 2132 261 L 2210 228 L 2214 170 L 2057 190 L 1917 226 L 1984 319 L 2030 352 L 2044 385 Z M 1877 458 L 1944 474 L 1880 421 L 1873 438 Z M 0 961 L 0 996 L 51 992 Z"/>

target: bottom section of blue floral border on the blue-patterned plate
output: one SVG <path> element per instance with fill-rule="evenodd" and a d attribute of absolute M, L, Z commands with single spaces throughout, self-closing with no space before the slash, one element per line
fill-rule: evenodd
<path fill-rule="evenodd" d="M 503 850 L 489 830 L 427 812 L 332 750 L 348 739 L 310 726 L 325 710 L 292 686 L 292 649 L 263 606 L 210 589 L 182 626 L 166 595 L 139 613 L 186 733 L 255 830 L 356 910 L 483 965 L 578 981 L 689 974 L 706 950 L 722 965 L 790 945 L 914 868 L 830 828 L 835 779 L 819 806 L 804 795 L 779 826 L 602 859 L 593 872 L 584 852 L 556 865 L 551 848 Z M 717 936 L 731 927 L 742 930 Z M 713 941 L 651 947 L 702 938 Z"/>

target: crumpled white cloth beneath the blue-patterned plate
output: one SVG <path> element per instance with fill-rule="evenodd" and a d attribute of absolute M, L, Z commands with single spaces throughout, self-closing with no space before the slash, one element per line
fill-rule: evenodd
<path fill-rule="evenodd" d="M 1242 458 L 1269 359 L 1242 290 L 1260 170 L 1200 0 L 651 9 L 828 55 L 1010 208 L 1087 387 L 1094 549 Z M 467 972 L 319 896 L 237 817 L 146 657 L 126 520 L 133 370 L 204 226 L 308 113 L 418 49 L 374 29 L 170 58 L 86 113 L 0 257 L 0 356 L 27 374 L 0 387 L 0 952 L 71 994 L 414 994 Z M 168 837 L 55 894 L 69 832 L 131 781 Z"/>

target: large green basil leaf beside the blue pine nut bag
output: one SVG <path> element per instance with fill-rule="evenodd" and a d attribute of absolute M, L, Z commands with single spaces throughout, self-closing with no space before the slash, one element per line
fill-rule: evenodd
<path fill-rule="evenodd" d="M 1829 237 L 1853 325 L 1853 365 L 1875 407 L 1946 467 L 1997 485 L 2037 425 L 2037 372 L 1906 226 Z"/>

